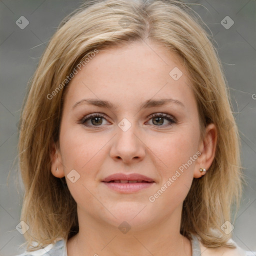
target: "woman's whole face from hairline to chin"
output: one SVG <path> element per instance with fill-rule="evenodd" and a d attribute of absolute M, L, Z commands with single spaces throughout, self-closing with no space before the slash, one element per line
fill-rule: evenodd
<path fill-rule="evenodd" d="M 163 46 L 148 45 L 100 50 L 66 88 L 52 173 L 65 175 L 78 216 L 115 226 L 156 223 L 181 210 L 193 177 L 203 175 L 198 111 L 184 66 Z M 127 176 L 102 181 L 115 173 Z M 119 183 L 132 177 L 140 182 Z"/>

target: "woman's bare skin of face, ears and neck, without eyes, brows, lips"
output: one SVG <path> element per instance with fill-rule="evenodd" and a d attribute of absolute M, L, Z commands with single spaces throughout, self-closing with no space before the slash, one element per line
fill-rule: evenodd
<path fill-rule="evenodd" d="M 182 75 L 174 80 L 169 72 L 178 67 Z M 116 109 L 79 104 L 83 98 L 109 100 Z M 175 103 L 139 109 L 148 99 L 174 98 Z M 90 113 L 103 113 L 100 125 L 92 119 L 79 120 Z M 166 113 L 176 123 L 150 117 Z M 126 118 L 127 131 L 118 123 Z M 161 122 L 162 121 L 162 122 Z M 94 126 L 93 126 L 94 125 Z M 196 100 L 181 59 L 154 42 L 133 42 L 100 50 L 70 81 L 64 98 L 58 146 L 51 155 L 51 172 L 66 177 L 68 189 L 77 202 L 79 232 L 67 241 L 72 255 L 187 255 L 190 241 L 179 233 L 182 202 L 193 178 L 210 167 L 215 155 L 217 131 L 205 128 L 200 139 Z M 196 151 L 201 152 L 188 168 L 150 202 L 155 194 Z M 56 171 L 58 167 L 58 171 Z M 75 169 L 74 183 L 67 174 Z M 155 183 L 133 193 L 119 193 L 100 182 L 116 173 L 140 173 Z M 122 233 L 126 221 L 131 229 Z M 96 254 L 97 253 L 97 254 Z M 206 255 L 206 254 L 204 254 Z"/>

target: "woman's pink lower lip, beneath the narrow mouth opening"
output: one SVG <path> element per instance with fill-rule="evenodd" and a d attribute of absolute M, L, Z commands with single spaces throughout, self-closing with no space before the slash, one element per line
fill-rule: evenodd
<path fill-rule="evenodd" d="M 137 183 L 115 183 L 115 182 L 103 182 L 109 188 L 123 193 L 136 192 L 141 189 L 150 187 L 154 182 L 137 182 Z"/>

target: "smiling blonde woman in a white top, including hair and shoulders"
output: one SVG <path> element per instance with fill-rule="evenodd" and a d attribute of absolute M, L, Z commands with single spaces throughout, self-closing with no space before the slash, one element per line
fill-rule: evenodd
<path fill-rule="evenodd" d="M 63 20 L 21 116 L 21 255 L 253 255 L 231 239 L 239 136 L 199 22 L 163 0 Z"/>

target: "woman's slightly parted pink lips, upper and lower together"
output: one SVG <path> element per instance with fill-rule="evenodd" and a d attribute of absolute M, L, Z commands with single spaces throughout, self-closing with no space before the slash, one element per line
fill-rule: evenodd
<path fill-rule="evenodd" d="M 136 183 L 109 182 L 111 180 L 142 180 L 143 182 L 136 182 Z M 141 189 L 148 188 L 153 183 L 155 183 L 153 179 L 138 173 L 131 173 L 131 174 L 115 173 L 105 177 L 101 182 L 103 182 L 103 184 L 105 184 L 108 188 L 113 189 L 120 193 L 136 192 Z"/>

